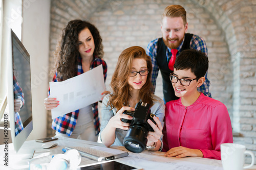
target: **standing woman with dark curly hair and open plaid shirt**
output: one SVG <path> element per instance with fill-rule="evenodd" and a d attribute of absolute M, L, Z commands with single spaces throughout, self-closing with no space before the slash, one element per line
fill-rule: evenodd
<path fill-rule="evenodd" d="M 103 54 L 102 39 L 97 28 L 87 21 L 71 20 L 62 30 L 56 47 L 52 81 L 67 80 L 100 64 L 105 80 L 107 66 L 101 59 Z M 106 93 L 108 91 L 102 92 L 102 95 Z M 45 108 L 52 110 L 59 105 L 58 102 L 56 98 L 46 98 Z M 53 119 L 52 128 L 56 130 L 56 136 L 97 141 L 100 131 L 98 103 Z"/>

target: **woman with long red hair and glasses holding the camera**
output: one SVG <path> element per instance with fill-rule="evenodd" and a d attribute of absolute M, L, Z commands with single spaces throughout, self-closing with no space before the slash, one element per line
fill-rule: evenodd
<path fill-rule="evenodd" d="M 159 151 L 162 149 L 162 125 L 164 118 L 164 102 L 154 95 L 151 88 L 152 63 L 145 50 L 140 46 L 126 48 L 119 56 L 114 71 L 111 88 L 102 101 L 102 123 L 100 137 L 106 147 L 124 145 L 123 139 L 127 134 L 130 123 L 124 123 L 121 118 L 132 119 L 124 111 L 134 111 L 139 102 L 147 103 L 151 113 L 155 114 L 156 125 L 150 120 L 154 132 L 147 135 L 147 149 Z"/>

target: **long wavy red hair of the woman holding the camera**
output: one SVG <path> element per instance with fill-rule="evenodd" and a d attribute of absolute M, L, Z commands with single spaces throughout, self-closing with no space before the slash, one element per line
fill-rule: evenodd
<path fill-rule="evenodd" d="M 110 100 L 108 105 L 111 109 L 114 107 L 120 110 L 123 106 L 129 106 L 128 101 L 131 98 L 130 85 L 128 83 L 129 72 L 132 69 L 132 63 L 135 58 L 141 58 L 146 60 L 148 75 L 146 83 L 142 86 L 139 92 L 140 99 L 144 103 L 153 105 L 152 92 L 150 90 L 151 84 L 151 72 L 152 63 L 151 58 L 146 55 L 145 50 L 140 46 L 132 46 L 126 48 L 119 56 L 117 65 L 112 76 L 111 88 L 113 93 L 110 94 Z"/>

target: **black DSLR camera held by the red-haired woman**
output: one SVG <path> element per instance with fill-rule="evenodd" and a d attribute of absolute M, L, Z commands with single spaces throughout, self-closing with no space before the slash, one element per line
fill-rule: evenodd
<path fill-rule="evenodd" d="M 156 124 L 153 119 L 156 115 L 151 113 L 150 105 L 143 102 L 138 103 L 135 111 L 123 112 L 123 114 L 133 117 L 132 120 L 121 118 L 122 122 L 131 123 L 123 140 L 124 147 L 131 152 L 140 153 L 146 149 L 148 132 L 154 131 L 150 124 L 147 123 L 147 119 L 151 119 Z"/>

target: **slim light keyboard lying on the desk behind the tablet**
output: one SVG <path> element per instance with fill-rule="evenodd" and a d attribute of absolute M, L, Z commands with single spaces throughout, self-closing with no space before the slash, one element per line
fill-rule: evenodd
<path fill-rule="evenodd" d="M 66 147 L 66 149 L 68 150 L 75 149 L 81 154 L 81 156 L 96 160 L 98 162 L 102 160 L 106 160 L 106 158 L 113 155 L 108 152 L 104 152 L 104 151 L 100 151 L 100 150 L 96 150 L 88 147 Z"/>

